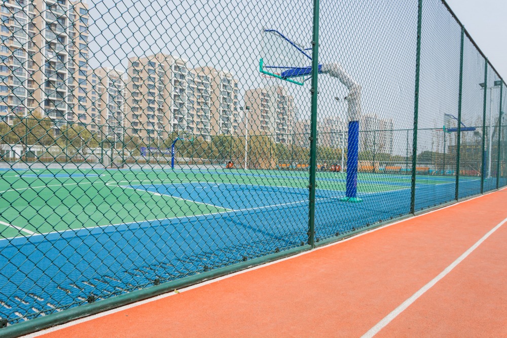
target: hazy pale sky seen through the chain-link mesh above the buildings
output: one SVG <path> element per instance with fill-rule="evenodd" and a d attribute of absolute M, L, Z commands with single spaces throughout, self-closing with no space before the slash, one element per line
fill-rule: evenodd
<path fill-rule="evenodd" d="M 239 103 L 249 88 L 285 86 L 301 119 L 310 116 L 309 83 L 265 79 L 259 72 L 263 28 L 277 29 L 311 46 L 309 0 L 88 0 L 90 65 L 125 70 L 128 58 L 165 53 L 234 73 Z M 470 35 L 507 79 L 507 0 L 449 0 Z M 269 9 L 269 10 L 268 10 Z M 260 15 L 262 13 L 262 15 Z M 319 63 L 340 63 L 361 84 L 363 114 L 392 119 L 395 129 L 413 127 L 417 0 L 321 0 Z M 441 0 L 423 1 L 419 128 L 442 128 L 446 114 L 457 116 L 460 27 Z M 484 59 L 464 45 L 462 121 L 482 126 Z M 346 117 L 345 86 L 324 74 L 318 78 L 321 118 Z M 488 71 L 488 87 L 495 77 Z M 488 121 L 495 116 L 499 89 L 491 89 Z M 341 102 L 337 102 L 339 97 Z M 491 107 L 491 109 L 490 109 Z M 491 110 L 491 111 L 490 111 Z M 491 116 L 491 117 L 490 117 Z M 396 143 L 406 144 L 406 132 Z M 419 135 L 420 148 L 431 147 L 430 131 Z M 410 140 L 409 140 L 410 141 Z M 410 141 L 411 142 L 411 141 Z"/>

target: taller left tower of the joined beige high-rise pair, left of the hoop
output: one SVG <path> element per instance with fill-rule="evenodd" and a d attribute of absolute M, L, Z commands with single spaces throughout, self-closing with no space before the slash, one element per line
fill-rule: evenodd
<path fill-rule="evenodd" d="M 189 70 L 171 55 L 132 57 L 125 80 L 125 128 L 144 143 L 162 142 L 171 131 L 187 131 Z"/>

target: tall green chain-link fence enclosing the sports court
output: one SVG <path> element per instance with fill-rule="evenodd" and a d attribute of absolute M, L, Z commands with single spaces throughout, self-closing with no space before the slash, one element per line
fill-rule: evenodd
<path fill-rule="evenodd" d="M 0 6 L 0 335 L 507 184 L 505 84 L 440 0 Z"/>

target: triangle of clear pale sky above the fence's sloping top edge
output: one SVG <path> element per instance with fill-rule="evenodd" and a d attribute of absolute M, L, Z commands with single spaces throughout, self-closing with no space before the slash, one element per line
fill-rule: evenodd
<path fill-rule="evenodd" d="M 507 79 L 507 1 L 447 0 L 454 13 L 486 54 Z"/>

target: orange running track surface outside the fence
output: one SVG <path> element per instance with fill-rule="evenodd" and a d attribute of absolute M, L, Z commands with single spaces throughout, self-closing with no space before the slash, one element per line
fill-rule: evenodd
<path fill-rule="evenodd" d="M 37 335 L 507 337 L 506 218 L 503 190 Z"/>

